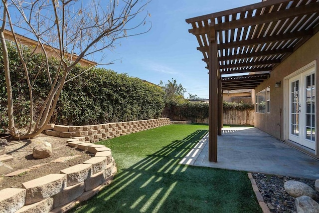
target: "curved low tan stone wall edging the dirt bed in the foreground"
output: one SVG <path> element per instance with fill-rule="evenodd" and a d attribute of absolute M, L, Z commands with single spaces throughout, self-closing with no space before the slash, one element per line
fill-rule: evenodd
<path fill-rule="evenodd" d="M 111 149 L 69 139 L 68 146 L 95 153 L 82 164 L 0 191 L 0 213 L 64 213 L 109 185 L 117 172 Z"/>

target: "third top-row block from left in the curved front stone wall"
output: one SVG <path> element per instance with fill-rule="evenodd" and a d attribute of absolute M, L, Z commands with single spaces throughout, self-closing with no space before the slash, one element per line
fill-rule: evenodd
<path fill-rule="evenodd" d="M 67 186 L 73 186 L 88 179 L 92 175 L 91 164 L 78 164 L 60 171 L 67 176 Z"/>

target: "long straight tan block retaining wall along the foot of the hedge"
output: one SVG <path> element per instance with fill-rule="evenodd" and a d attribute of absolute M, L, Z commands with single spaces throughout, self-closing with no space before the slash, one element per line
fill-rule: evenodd
<path fill-rule="evenodd" d="M 85 141 L 96 143 L 101 140 L 107 140 L 169 124 L 171 124 L 169 118 L 159 118 L 87 126 L 49 125 L 47 130 L 45 130 L 45 134 L 61 138 L 85 137 Z"/>

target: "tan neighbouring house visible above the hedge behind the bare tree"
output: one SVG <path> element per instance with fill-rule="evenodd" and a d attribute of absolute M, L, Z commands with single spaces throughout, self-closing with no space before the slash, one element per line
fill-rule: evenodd
<path fill-rule="evenodd" d="M 17 34 L 17 33 L 15 33 L 15 35 L 16 35 L 16 37 L 17 37 L 18 42 L 21 43 L 22 45 L 27 45 L 27 46 L 30 46 L 30 47 L 32 47 L 32 48 L 35 48 L 35 47 L 37 46 L 37 43 L 38 43 L 38 42 L 37 42 L 36 40 L 27 38 L 27 37 L 25 37 L 25 36 L 23 36 L 23 35 L 20 35 L 20 34 Z M 13 39 L 13 36 L 12 36 L 12 32 L 11 32 L 11 31 L 8 31 L 8 30 L 4 30 L 4 37 L 5 37 L 5 39 L 8 40 L 8 41 L 13 41 L 13 40 L 14 40 L 14 39 Z M 50 56 L 58 57 L 58 53 L 57 53 L 57 52 L 59 52 L 58 49 L 53 48 L 53 47 L 51 47 L 51 46 L 49 46 L 49 45 L 44 45 L 44 48 L 45 48 L 45 50 L 46 50 L 46 52 L 47 52 L 47 54 L 48 54 L 49 57 L 50 57 Z M 36 48 L 36 51 L 35 51 L 35 52 L 40 52 L 40 51 L 41 51 L 41 47 L 38 46 L 38 47 Z M 71 55 L 70 53 L 68 53 L 68 54 L 67 54 L 67 57 L 68 57 L 68 59 L 71 59 L 71 60 L 74 61 L 74 60 L 77 59 L 78 56 L 77 56 L 76 54 L 72 54 L 72 55 Z M 94 65 L 97 65 L 96 62 L 90 61 L 90 60 L 87 60 L 87 59 L 84 59 L 84 58 L 82 58 L 82 59 L 79 61 L 79 63 L 80 63 L 81 66 L 94 66 Z"/>

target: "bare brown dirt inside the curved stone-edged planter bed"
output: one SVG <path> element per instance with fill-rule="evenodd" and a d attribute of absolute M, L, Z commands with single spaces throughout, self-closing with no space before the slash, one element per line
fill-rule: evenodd
<path fill-rule="evenodd" d="M 32 157 L 32 149 L 41 141 L 49 142 L 52 145 L 52 155 L 44 159 L 34 159 Z M 12 167 L 13 170 L 0 175 L 0 190 L 21 188 L 24 182 L 52 173 L 59 174 L 60 170 L 83 163 L 93 156 L 92 153 L 67 146 L 66 141 L 66 138 L 47 136 L 45 134 L 40 134 L 31 140 L 8 140 L 5 150 L 0 149 L 0 155 L 6 154 L 13 157 L 13 160 L 4 162 Z M 31 170 L 23 171 L 26 168 Z M 5 177 L 5 175 L 14 171 L 17 171 L 15 176 Z"/>

